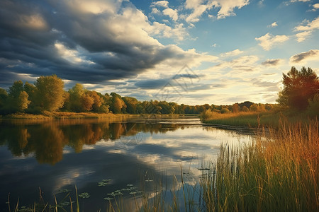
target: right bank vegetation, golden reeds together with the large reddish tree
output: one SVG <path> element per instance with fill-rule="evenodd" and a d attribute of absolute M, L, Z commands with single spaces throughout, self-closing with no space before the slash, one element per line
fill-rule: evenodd
<path fill-rule="evenodd" d="M 286 117 L 289 123 L 306 123 L 318 118 L 319 79 L 312 69 L 303 67 L 298 71 L 291 67 L 283 75 L 283 85 L 284 89 L 276 100 L 279 105 L 253 104 L 247 107 L 236 103 L 231 113 L 206 110 L 201 113 L 201 119 L 210 124 L 279 127 L 281 117 Z"/>

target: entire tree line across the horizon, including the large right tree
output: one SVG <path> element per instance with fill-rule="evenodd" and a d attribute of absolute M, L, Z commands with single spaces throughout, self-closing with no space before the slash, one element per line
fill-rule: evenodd
<path fill-rule="evenodd" d="M 293 110 L 319 111 L 319 80 L 316 73 L 303 67 L 295 67 L 283 76 L 284 89 L 279 92 L 277 102 L 281 107 Z M 0 88 L 0 114 L 26 112 L 42 114 L 49 112 L 96 112 L 114 114 L 201 114 L 206 110 L 214 112 L 265 112 L 274 104 L 253 102 L 233 105 L 184 105 L 167 101 L 139 101 L 133 97 L 122 97 L 117 93 L 101 94 L 87 90 L 77 83 L 64 90 L 64 82 L 56 75 L 40 76 L 34 84 L 15 81 L 8 90 Z"/>

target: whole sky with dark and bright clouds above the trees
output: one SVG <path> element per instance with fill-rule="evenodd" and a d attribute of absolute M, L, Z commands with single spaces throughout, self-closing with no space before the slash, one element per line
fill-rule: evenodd
<path fill-rule="evenodd" d="M 291 66 L 319 74 L 318 0 L 0 1 L 4 89 L 56 74 L 138 100 L 274 103 Z"/>

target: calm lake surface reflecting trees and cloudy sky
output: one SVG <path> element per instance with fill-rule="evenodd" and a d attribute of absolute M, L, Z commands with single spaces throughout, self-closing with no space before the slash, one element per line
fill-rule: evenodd
<path fill-rule="evenodd" d="M 85 211 L 106 210 L 106 197 L 121 192 L 125 206 L 133 194 L 156 195 L 159 179 L 178 192 L 181 169 L 187 185 L 198 186 L 201 167 L 216 160 L 220 143 L 238 145 L 251 136 L 203 126 L 196 117 L 110 120 L 67 119 L 0 122 L 0 208 L 8 211 L 39 201 L 54 204 L 74 185 Z M 135 194 L 136 193 L 136 194 Z M 169 194 L 171 192 L 168 192 Z M 84 195 L 85 196 L 85 195 Z M 69 199 L 67 199 L 69 200 Z"/>

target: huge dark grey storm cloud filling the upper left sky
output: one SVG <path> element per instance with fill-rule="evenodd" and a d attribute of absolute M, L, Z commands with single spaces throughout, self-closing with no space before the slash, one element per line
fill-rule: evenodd
<path fill-rule="evenodd" d="M 185 57 L 134 25 L 140 18 L 138 23 L 150 26 L 130 3 L 99 1 L 105 3 L 103 13 L 85 13 L 78 3 L 0 2 L 0 86 L 11 84 L 18 73 L 54 73 L 79 83 L 134 78 L 165 59 Z"/>

